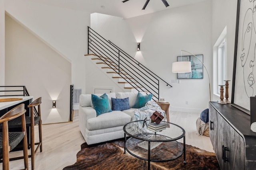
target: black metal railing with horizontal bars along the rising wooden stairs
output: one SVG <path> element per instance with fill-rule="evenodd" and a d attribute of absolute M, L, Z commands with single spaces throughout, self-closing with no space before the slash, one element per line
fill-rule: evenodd
<path fill-rule="evenodd" d="M 114 43 L 107 41 L 88 27 L 88 54 L 90 51 L 118 73 L 120 77 L 124 78 L 133 88 L 138 91 L 149 92 L 158 100 L 160 98 L 160 81 L 172 87 Z"/>

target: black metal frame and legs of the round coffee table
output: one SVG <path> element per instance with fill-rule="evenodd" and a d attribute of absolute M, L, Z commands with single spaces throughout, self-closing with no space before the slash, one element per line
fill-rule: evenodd
<path fill-rule="evenodd" d="M 143 121 L 143 120 L 138 120 L 138 121 Z M 149 121 L 149 120 L 148 120 L 148 121 Z M 137 122 L 137 121 L 132 121 L 132 122 L 130 122 L 130 123 L 134 123 L 134 122 Z M 170 123 L 170 122 L 166 122 L 166 121 L 162 121 L 162 122 L 164 122 L 164 123 Z M 128 125 L 128 124 L 129 124 L 129 123 L 127 123 L 126 125 Z M 150 161 L 153 161 L 153 162 L 167 162 L 167 161 L 171 161 L 171 160 L 175 160 L 175 159 L 179 158 L 182 154 L 183 154 L 183 156 L 184 156 L 184 157 L 183 157 L 183 163 L 186 164 L 186 139 L 185 139 L 186 137 L 185 137 L 185 130 L 184 130 L 182 127 L 180 127 L 179 125 L 176 125 L 176 124 L 174 124 L 174 123 L 170 123 L 170 124 L 179 127 L 179 128 L 183 131 L 183 134 L 180 135 L 180 136 L 177 137 L 177 138 L 173 138 L 173 139 L 170 139 L 170 140 L 150 140 L 150 139 L 142 139 L 142 138 L 138 137 L 139 135 L 142 135 L 142 134 L 137 134 L 136 136 L 131 135 L 130 133 L 128 133 L 128 132 L 126 131 L 126 129 L 125 129 L 126 125 L 124 125 L 124 128 L 123 128 L 123 129 L 124 129 L 124 154 L 126 154 L 126 150 L 127 150 L 132 156 L 134 156 L 134 157 L 136 157 L 136 158 L 139 158 L 139 159 L 142 159 L 142 160 L 147 160 L 147 161 L 148 161 L 148 170 L 150 170 Z M 143 141 L 148 141 L 148 159 L 142 158 L 142 157 L 140 157 L 140 156 L 137 156 L 137 155 L 133 154 L 132 152 L 130 152 L 130 150 L 128 150 L 128 149 L 126 148 L 126 133 L 127 133 L 128 136 L 130 136 L 130 137 L 132 137 L 132 138 L 136 138 L 136 139 L 143 140 Z M 148 134 L 148 133 L 146 133 L 146 134 Z M 154 134 L 156 135 L 156 132 L 155 132 Z M 152 135 L 152 134 L 150 134 L 150 135 Z M 160 135 L 160 134 L 158 134 L 158 135 Z M 164 135 L 161 135 L 161 136 L 164 136 Z M 166 136 L 166 137 L 167 137 L 167 136 Z M 170 137 L 168 137 L 168 138 L 170 138 Z M 182 152 L 181 152 L 180 155 L 176 156 L 175 158 L 168 159 L 168 160 L 151 160 L 151 159 L 150 159 L 150 142 L 170 142 L 170 141 L 176 141 L 179 145 L 181 145 L 181 144 L 177 141 L 178 139 L 181 139 L 181 138 L 183 138 L 183 143 L 184 143 L 184 145 L 183 145 L 183 150 L 182 150 Z"/>

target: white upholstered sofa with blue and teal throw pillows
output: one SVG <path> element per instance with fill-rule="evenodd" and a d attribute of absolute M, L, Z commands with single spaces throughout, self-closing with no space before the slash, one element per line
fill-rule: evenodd
<path fill-rule="evenodd" d="M 146 95 L 145 92 L 141 92 Z M 95 94 L 101 96 L 102 94 Z M 111 98 L 129 98 L 130 109 L 111 111 L 96 116 L 91 94 L 81 94 L 79 103 L 79 128 L 88 145 L 120 139 L 124 137 L 123 127 L 129 123 L 137 108 L 132 108 L 138 92 L 118 92 L 107 94 L 112 107 Z"/>

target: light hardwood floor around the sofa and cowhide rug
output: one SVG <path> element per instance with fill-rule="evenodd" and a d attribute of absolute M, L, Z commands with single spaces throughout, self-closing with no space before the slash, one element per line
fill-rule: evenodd
<path fill-rule="evenodd" d="M 214 152 L 209 137 L 198 136 L 196 134 L 196 119 L 200 113 L 188 113 L 180 111 L 170 111 L 170 122 L 176 123 L 186 131 L 186 144 Z M 78 127 L 78 111 L 74 111 L 73 122 L 58 123 L 42 126 L 43 152 L 38 151 L 35 156 L 36 170 L 62 170 L 65 166 L 76 162 L 76 154 L 84 143 Z M 35 135 L 38 134 L 36 126 Z M 183 139 L 180 140 L 183 142 Z M 30 152 L 30 150 L 28 151 Z M 22 151 L 12 152 L 11 156 L 22 155 Z M 29 158 L 31 169 L 31 159 Z M 10 162 L 11 170 L 24 168 L 23 160 Z M 0 163 L 0 170 L 2 163 Z"/>

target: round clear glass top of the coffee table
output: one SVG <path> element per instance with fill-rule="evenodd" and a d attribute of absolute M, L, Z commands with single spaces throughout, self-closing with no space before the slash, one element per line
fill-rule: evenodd
<path fill-rule="evenodd" d="M 185 130 L 174 123 L 161 121 L 161 123 L 166 124 L 166 128 L 156 132 L 148 129 L 149 123 L 151 120 L 147 120 L 146 125 L 144 120 L 132 121 L 124 125 L 124 133 L 136 139 L 152 142 L 176 141 L 185 136 Z"/>

